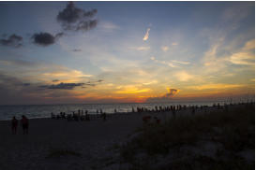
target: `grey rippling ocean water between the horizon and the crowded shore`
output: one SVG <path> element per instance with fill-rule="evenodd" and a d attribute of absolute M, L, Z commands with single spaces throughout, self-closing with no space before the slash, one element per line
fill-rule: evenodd
<path fill-rule="evenodd" d="M 172 103 L 134 103 L 134 104 L 64 104 L 64 105 L 16 105 L 16 106 L 0 106 L 0 120 L 11 120 L 13 116 L 17 119 L 21 119 L 22 115 L 25 115 L 29 119 L 37 118 L 50 118 L 51 113 L 59 114 L 60 112 L 66 112 L 66 114 L 72 113 L 80 110 L 88 110 L 89 114 L 97 114 L 97 109 L 102 109 L 103 112 L 107 114 L 114 113 L 116 109 L 119 113 L 131 112 L 132 107 L 146 107 L 149 109 L 155 108 L 155 106 L 176 106 L 176 105 L 186 105 L 186 106 L 212 106 L 218 102 L 172 102 Z"/>

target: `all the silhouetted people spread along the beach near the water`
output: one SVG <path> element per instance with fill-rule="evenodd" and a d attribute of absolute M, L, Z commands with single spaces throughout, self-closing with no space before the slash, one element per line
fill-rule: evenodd
<path fill-rule="evenodd" d="M 247 103 L 237 103 L 237 104 L 224 104 L 224 105 L 220 105 L 218 104 L 214 104 L 213 107 L 216 109 L 225 109 L 225 111 L 229 111 L 229 106 L 232 105 L 255 105 L 254 102 L 247 102 Z M 203 110 L 203 108 L 206 108 L 208 106 L 181 106 L 181 105 L 177 105 L 177 106 L 155 106 L 154 108 L 147 108 L 147 107 L 132 107 L 131 112 L 132 113 L 150 113 L 150 112 L 169 112 L 173 114 L 173 118 L 176 117 L 176 112 L 180 111 L 180 110 L 188 110 L 191 115 L 195 115 L 195 113 L 197 112 L 197 110 Z M 204 109 L 205 111 L 205 109 Z M 88 113 L 88 110 L 84 110 L 83 109 L 79 109 L 77 112 L 73 111 L 71 114 L 66 114 L 66 112 L 60 112 L 59 114 L 53 114 L 53 112 L 51 113 L 51 118 L 55 119 L 55 120 L 76 120 L 76 121 L 83 121 L 83 120 L 91 120 L 93 118 L 101 118 L 102 120 L 107 120 L 107 114 L 106 112 L 103 112 L 102 109 L 97 109 L 96 110 L 96 115 L 92 115 Z M 114 113 L 117 113 L 117 110 L 114 109 Z M 147 122 L 148 120 L 150 120 L 150 116 L 144 116 L 143 117 L 143 121 Z M 160 122 L 160 120 L 157 117 L 154 117 L 154 119 L 156 120 L 157 123 Z M 29 127 L 29 122 L 28 119 L 23 115 L 22 119 L 20 120 L 21 122 L 21 126 L 23 128 L 23 135 L 27 135 L 28 134 L 28 127 Z M 19 124 L 19 120 L 16 119 L 16 117 L 14 116 L 11 120 L 11 130 L 12 130 L 12 134 L 15 135 L 17 134 L 17 128 L 18 128 L 18 124 Z"/>

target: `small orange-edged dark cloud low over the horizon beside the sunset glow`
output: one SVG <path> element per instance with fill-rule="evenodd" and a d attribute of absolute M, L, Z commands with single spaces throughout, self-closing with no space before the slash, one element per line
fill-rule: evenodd
<path fill-rule="evenodd" d="M 170 102 L 173 99 L 173 96 L 177 94 L 180 90 L 177 89 L 167 89 L 168 92 L 160 97 L 149 97 L 146 99 L 146 102 L 154 103 L 154 102 Z"/>

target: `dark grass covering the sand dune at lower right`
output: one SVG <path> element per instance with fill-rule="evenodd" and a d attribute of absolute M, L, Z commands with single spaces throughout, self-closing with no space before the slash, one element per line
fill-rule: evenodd
<path fill-rule="evenodd" d="M 185 146 L 200 149 L 199 142 L 210 141 L 221 146 L 214 158 L 195 154 L 186 159 L 179 159 L 180 156 L 174 155 L 175 161 L 171 160 L 166 168 L 225 170 L 254 168 L 254 163 L 248 163 L 237 156 L 240 151 L 255 150 L 254 128 L 254 104 L 232 106 L 229 110 L 219 109 L 201 115 L 178 117 L 164 124 L 141 128 L 139 130 L 141 134 L 120 149 L 121 156 L 125 162 L 138 164 L 136 155 L 140 153 L 145 153 L 152 159 L 158 155 L 178 153 Z M 149 164 L 147 163 L 146 166 Z M 135 165 L 134 169 L 138 167 Z"/>

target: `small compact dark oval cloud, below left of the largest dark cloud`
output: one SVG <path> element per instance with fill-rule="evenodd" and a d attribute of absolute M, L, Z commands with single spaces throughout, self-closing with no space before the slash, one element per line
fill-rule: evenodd
<path fill-rule="evenodd" d="M 40 46 L 49 46 L 54 44 L 56 40 L 63 35 L 64 33 L 58 33 L 56 35 L 51 35 L 50 33 L 36 33 L 32 35 L 32 38 L 34 39 L 35 44 Z"/>

